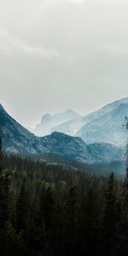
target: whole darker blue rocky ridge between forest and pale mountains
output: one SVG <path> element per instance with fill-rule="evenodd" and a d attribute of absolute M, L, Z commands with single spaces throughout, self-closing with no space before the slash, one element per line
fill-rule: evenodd
<path fill-rule="evenodd" d="M 15 121 L 0 105 L 0 136 L 7 154 L 20 154 L 42 158 L 43 154 L 56 154 L 79 163 L 110 163 L 123 160 L 122 151 L 113 145 L 94 144 L 89 147 L 80 137 L 53 132 L 36 137 Z M 95 154 L 94 154 L 95 152 Z"/>

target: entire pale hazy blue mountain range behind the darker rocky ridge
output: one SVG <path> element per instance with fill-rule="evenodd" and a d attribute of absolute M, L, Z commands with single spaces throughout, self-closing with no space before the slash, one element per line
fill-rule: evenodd
<path fill-rule="evenodd" d="M 73 137 L 81 137 L 86 144 L 109 143 L 124 147 L 126 143 L 125 115 L 128 114 L 128 97 L 81 116 L 72 110 L 55 115 L 45 114 L 33 131 L 45 136 L 54 131 Z"/>

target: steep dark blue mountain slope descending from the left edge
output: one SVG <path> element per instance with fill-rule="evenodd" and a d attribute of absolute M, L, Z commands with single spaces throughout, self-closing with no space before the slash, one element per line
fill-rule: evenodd
<path fill-rule="evenodd" d="M 0 105 L 0 136 L 3 149 L 9 154 L 37 154 L 38 140 L 15 121 Z"/>

